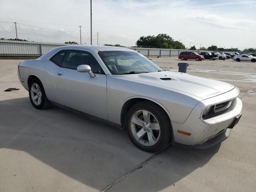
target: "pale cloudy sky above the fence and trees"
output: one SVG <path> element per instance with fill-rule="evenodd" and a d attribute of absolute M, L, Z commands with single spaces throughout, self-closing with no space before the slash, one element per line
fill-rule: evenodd
<path fill-rule="evenodd" d="M 0 0 L 0 38 L 90 44 L 90 0 Z M 98 42 L 97 42 L 97 32 Z M 256 0 L 92 0 L 92 44 L 166 33 L 186 47 L 256 48 Z"/>

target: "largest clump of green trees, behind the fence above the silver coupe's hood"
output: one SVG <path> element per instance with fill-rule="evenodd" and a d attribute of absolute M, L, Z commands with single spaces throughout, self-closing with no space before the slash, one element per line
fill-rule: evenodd
<path fill-rule="evenodd" d="M 169 49 L 185 49 L 184 44 L 179 41 L 174 41 L 167 34 L 158 34 L 157 36 L 141 36 L 137 42 L 137 47 L 148 48 L 169 48 Z"/>

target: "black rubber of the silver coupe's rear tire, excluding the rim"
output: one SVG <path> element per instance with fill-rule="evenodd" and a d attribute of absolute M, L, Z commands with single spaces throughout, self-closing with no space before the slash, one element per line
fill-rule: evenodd
<path fill-rule="evenodd" d="M 41 90 L 41 102 L 39 104 L 35 104 L 32 100 L 32 91 L 31 88 L 34 84 L 37 84 L 40 87 Z M 36 109 L 46 109 L 50 106 L 50 101 L 48 100 L 48 98 L 46 97 L 46 94 L 44 92 L 44 87 L 42 85 L 42 83 L 40 82 L 39 79 L 35 78 L 33 79 L 30 84 L 29 84 L 29 98 L 30 98 L 30 102 L 31 104 L 36 108 Z"/>

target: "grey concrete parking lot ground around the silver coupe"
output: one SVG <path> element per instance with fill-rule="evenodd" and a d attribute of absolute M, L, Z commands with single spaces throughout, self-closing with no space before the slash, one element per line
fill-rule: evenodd
<path fill-rule="evenodd" d="M 178 70 L 177 57 L 150 58 Z M 20 60 L 0 60 L 0 192 L 254 192 L 256 63 L 188 60 L 188 74 L 240 88 L 243 115 L 207 150 L 139 150 L 125 131 L 66 110 L 36 110 L 17 77 Z M 19 88 L 4 92 L 7 88 Z"/>

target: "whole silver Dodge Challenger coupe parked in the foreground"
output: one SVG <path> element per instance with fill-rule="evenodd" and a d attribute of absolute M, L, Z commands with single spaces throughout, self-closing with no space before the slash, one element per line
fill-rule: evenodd
<path fill-rule="evenodd" d="M 235 86 L 162 70 L 142 54 L 109 46 L 61 46 L 18 65 L 32 105 L 55 104 L 126 129 L 138 148 L 208 148 L 242 115 Z"/>

